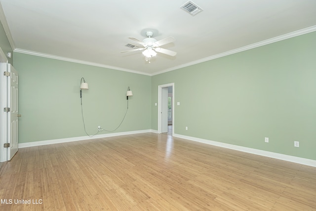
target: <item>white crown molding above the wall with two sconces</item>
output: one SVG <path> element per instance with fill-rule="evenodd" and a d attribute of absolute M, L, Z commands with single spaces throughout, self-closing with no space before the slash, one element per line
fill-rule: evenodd
<path fill-rule="evenodd" d="M 87 62 L 87 61 L 83 61 L 83 60 L 72 59 L 72 58 L 67 58 L 67 57 L 62 57 L 62 56 L 55 56 L 55 55 L 51 55 L 51 54 L 40 53 L 40 52 L 25 50 L 25 49 L 20 49 L 20 48 L 15 48 L 14 52 L 25 53 L 25 54 L 29 54 L 29 55 L 40 56 L 40 57 L 45 57 L 45 58 L 50 58 L 50 59 L 57 59 L 57 60 L 62 60 L 62 61 L 67 61 L 67 62 L 74 62 L 74 63 L 79 63 L 79 64 L 91 65 L 91 66 L 96 66 L 96 67 L 103 67 L 103 68 L 108 68 L 108 69 L 112 69 L 112 70 L 119 70 L 119 71 L 124 71 L 124 72 L 129 72 L 129 73 L 136 73 L 136 74 L 150 76 L 150 74 L 148 74 L 148 73 L 143 73 L 143 72 L 139 72 L 139 71 L 124 69 L 124 68 L 114 67 L 114 66 L 110 66 L 110 65 L 99 64 L 99 63 Z"/>

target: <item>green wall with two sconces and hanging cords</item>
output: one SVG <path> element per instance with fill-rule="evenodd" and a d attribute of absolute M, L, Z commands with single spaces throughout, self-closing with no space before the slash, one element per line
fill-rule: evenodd
<path fill-rule="evenodd" d="M 113 130 L 127 107 L 127 87 L 133 91 L 122 125 L 114 132 L 151 129 L 151 77 L 14 52 L 19 72 L 19 143 L 86 136 L 97 127 Z M 106 133 L 101 132 L 99 134 Z"/>

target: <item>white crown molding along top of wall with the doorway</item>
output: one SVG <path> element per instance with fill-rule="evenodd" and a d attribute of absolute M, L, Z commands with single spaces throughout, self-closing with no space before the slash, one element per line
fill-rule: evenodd
<path fill-rule="evenodd" d="M 208 57 L 205 57 L 205 58 L 193 61 L 193 62 L 189 62 L 189 63 L 183 64 L 183 65 L 179 65 L 179 66 L 172 67 L 172 68 L 169 68 L 169 69 L 166 69 L 166 70 L 163 70 L 163 71 L 159 71 L 157 73 L 152 74 L 151 76 L 155 76 L 155 75 L 159 75 L 159 74 L 162 74 L 162 73 L 170 72 L 170 71 L 177 70 L 177 69 L 180 69 L 180 68 L 188 67 L 188 66 L 195 65 L 195 64 L 198 64 L 198 63 L 202 63 L 202 62 L 206 62 L 206 61 L 210 61 L 210 60 L 213 60 L 213 59 L 217 59 L 217 58 L 220 58 L 220 57 L 228 56 L 228 55 L 231 55 L 231 54 L 234 54 L 234 53 L 238 53 L 238 52 L 241 52 L 241 51 L 245 51 L 245 50 L 249 50 L 249 49 L 252 49 L 252 48 L 260 47 L 260 46 L 263 46 L 263 45 L 271 44 L 271 43 L 274 43 L 274 42 L 286 40 L 286 39 L 289 39 L 289 38 L 297 37 L 297 36 L 308 34 L 308 33 L 315 32 L 315 31 L 316 31 L 316 26 L 311 26 L 311 27 L 308 27 L 308 28 L 305 28 L 305 29 L 301 29 L 301 30 L 298 30 L 298 31 L 295 31 L 295 32 L 291 32 L 291 33 L 288 33 L 288 34 L 285 34 L 285 35 L 277 36 L 275 38 L 271 38 L 271 39 L 268 39 L 268 40 L 265 40 L 265 41 L 256 42 L 256 43 L 253 43 L 253 44 L 249 44 L 249 45 L 246 45 L 246 46 L 243 46 L 243 47 L 236 48 L 234 50 L 229 50 L 229 51 L 226 51 L 226 52 L 223 52 L 223 53 L 219 53 L 219 54 L 216 54 L 216 55 L 213 55 L 213 56 L 208 56 Z"/>

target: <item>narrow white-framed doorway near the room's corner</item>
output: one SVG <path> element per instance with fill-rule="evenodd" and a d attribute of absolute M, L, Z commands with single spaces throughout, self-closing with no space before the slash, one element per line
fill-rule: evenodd
<path fill-rule="evenodd" d="M 158 86 L 158 133 L 174 135 L 174 83 Z"/>

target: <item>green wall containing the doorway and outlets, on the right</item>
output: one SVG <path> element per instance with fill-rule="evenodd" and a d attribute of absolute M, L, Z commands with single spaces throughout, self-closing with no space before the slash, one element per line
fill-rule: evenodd
<path fill-rule="evenodd" d="M 316 32 L 153 76 L 153 129 L 169 83 L 176 134 L 316 160 Z"/>

